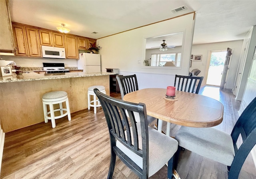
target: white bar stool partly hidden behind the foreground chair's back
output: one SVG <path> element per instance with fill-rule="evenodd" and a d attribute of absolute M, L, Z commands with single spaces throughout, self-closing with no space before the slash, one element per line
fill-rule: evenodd
<path fill-rule="evenodd" d="M 96 94 L 93 91 L 94 88 L 98 88 L 98 90 L 100 90 L 100 92 L 104 94 L 106 94 L 106 91 L 104 86 L 90 86 L 88 88 L 88 110 L 90 110 L 90 107 L 94 107 L 94 114 L 96 114 L 96 107 L 100 107 L 101 105 L 100 105 L 100 101 L 96 99 Z M 91 95 L 93 96 L 92 101 L 90 99 Z"/>

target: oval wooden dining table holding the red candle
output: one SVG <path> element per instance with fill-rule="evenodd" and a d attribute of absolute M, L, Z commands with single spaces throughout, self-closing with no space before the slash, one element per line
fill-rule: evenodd
<path fill-rule="evenodd" d="M 146 88 L 124 95 L 124 101 L 145 103 L 147 115 L 156 117 L 158 131 L 162 121 L 167 122 L 166 135 L 170 135 L 170 123 L 189 127 L 213 127 L 222 122 L 224 107 L 220 101 L 184 91 L 175 91 L 175 99 L 166 98 L 166 89 Z"/>

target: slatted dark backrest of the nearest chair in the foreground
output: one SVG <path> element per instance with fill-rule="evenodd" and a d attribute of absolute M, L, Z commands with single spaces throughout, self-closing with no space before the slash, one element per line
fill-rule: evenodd
<path fill-rule="evenodd" d="M 116 140 L 120 141 L 130 151 L 143 158 L 143 165 L 146 168 L 146 165 L 148 165 L 148 120 L 146 105 L 144 103 L 136 104 L 122 101 L 105 95 L 98 89 L 94 89 L 94 93 L 100 100 L 105 114 L 110 133 L 110 141 L 112 141 L 111 147 L 116 146 Z M 137 128 L 134 112 L 140 114 L 140 129 Z M 122 123 L 123 120 L 125 121 L 124 124 Z M 138 138 L 138 130 L 140 130 L 141 136 L 143 137 Z M 139 140 L 142 141 L 142 149 L 139 148 Z M 134 165 L 134 163 L 130 163 L 130 165 Z"/>

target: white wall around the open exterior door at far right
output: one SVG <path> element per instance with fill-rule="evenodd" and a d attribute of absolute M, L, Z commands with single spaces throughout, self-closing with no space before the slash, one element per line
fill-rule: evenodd
<path fill-rule="evenodd" d="M 191 54 L 202 55 L 203 58 L 202 58 L 202 62 L 192 61 L 192 66 L 191 68 L 189 68 L 189 71 L 191 72 L 194 68 L 198 68 L 199 70 L 201 70 L 198 76 L 206 77 L 205 71 L 206 71 L 206 65 L 208 60 L 207 58 L 210 50 L 222 50 L 222 49 L 224 50 L 227 48 L 232 48 L 233 53 L 230 60 L 230 69 L 228 70 L 228 75 L 226 78 L 226 85 L 225 85 L 225 88 L 232 89 L 235 82 L 238 63 L 240 60 L 242 44 L 243 44 L 243 40 L 193 45 Z M 202 85 L 205 85 L 205 84 L 206 84 L 206 78 L 204 78 Z"/>

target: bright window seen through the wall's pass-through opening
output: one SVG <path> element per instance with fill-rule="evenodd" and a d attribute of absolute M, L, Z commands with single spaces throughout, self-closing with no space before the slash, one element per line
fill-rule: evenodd
<path fill-rule="evenodd" d="M 151 66 L 176 66 L 180 67 L 181 53 L 152 54 Z"/>

